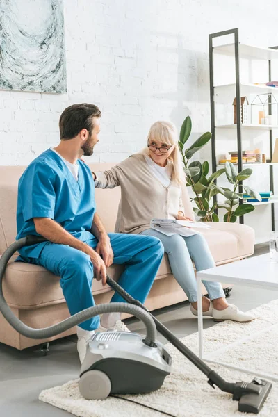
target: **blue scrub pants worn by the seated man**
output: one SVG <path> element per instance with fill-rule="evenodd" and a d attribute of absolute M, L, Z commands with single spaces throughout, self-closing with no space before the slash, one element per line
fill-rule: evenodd
<path fill-rule="evenodd" d="M 108 234 L 116 264 L 125 264 L 118 283 L 132 297 L 144 303 L 156 277 L 163 258 L 163 245 L 153 236 L 133 234 Z M 95 249 L 98 240 L 86 240 Z M 22 259 L 35 265 L 41 265 L 54 275 L 60 277 L 60 286 L 71 315 L 95 305 L 92 297 L 92 279 L 94 270 L 90 256 L 68 245 L 47 243 L 39 258 Z M 111 302 L 124 302 L 115 293 Z M 79 325 L 85 330 L 99 327 L 99 316 L 93 317 Z"/>

